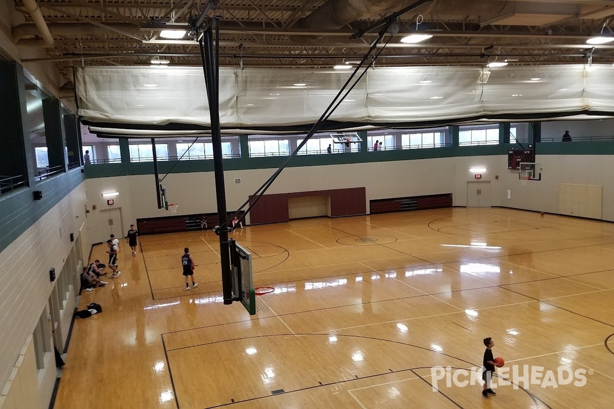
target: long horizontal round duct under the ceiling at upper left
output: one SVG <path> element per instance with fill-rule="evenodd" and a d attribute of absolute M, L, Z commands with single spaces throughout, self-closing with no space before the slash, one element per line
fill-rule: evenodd
<path fill-rule="evenodd" d="M 119 29 L 121 31 L 128 32 L 130 34 L 137 34 L 141 29 L 139 26 L 130 23 L 105 23 L 105 26 L 108 26 L 109 29 Z M 103 37 L 104 34 L 109 33 L 109 29 L 94 26 L 87 23 L 54 23 L 47 25 L 49 31 L 54 36 L 61 37 L 82 37 L 82 36 L 92 36 L 92 37 Z M 39 35 L 39 30 L 34 24 L 20 24 L 11 29 L 13 42 L 17 45 L 21 45 L 19 40 L 25 39 L 26 37 L 33 37 Z M 23 45 L 34 45 L 35 43 L 28 41 L 24 42 Z M 39 44 L 39 46 L 43 46 L 44 44 Z"/>

